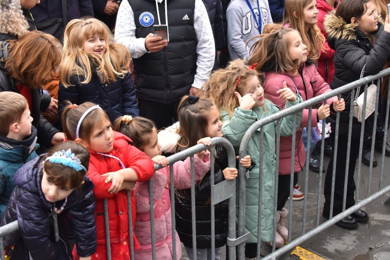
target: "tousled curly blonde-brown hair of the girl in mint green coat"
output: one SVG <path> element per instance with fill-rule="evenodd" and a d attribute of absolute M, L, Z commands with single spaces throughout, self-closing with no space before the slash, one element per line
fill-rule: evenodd
<path fill-rule="evenodd" d="M 203 91 L 201 97 L 211 100 L 219 110 L 227 111 L 232 117 L 234 108 L 240 105 L 234 92 L 242 94 L 243 87 L 252 77 L 258 77 L 256 70 L 245 65 L 244 60 L 233 60 L 226 68 L 211 74 L 210 79 L 203 85 L 206 91 Z M 238 79 L 240 80 L 236 86 Z"/>

